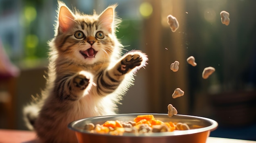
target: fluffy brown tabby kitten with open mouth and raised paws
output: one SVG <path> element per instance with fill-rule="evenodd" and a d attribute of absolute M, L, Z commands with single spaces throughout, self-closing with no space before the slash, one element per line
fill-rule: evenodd
<path fill-rule="evenodd" d="M 146 66 L 146 54 L 121 57 L 115 7 L 100 15 L 74 13 L 58 2 L 55 37 L 49 42 L 46 88 L 24 108 L 25 121 L 45 143 L 76 142 L 68 123 L 85 117 L 116 114 L 117 103 Z M 33 126 L 31 124 L 34 124 Z"/>

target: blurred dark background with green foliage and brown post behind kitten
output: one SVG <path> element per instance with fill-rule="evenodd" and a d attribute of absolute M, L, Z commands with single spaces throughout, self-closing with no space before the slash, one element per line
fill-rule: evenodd
<path fill-rule="evenodd" d="M 139 70 L 119 113 L 208 117 L 219 123 L 210 136 L 256 141 L 255 0 L 63 0 L 83 13 L 118 3 L 117 37 L 149 61 Z M 45 87 L 47 42 L 54 37 L 56 0 L 0 0 L 0 128 L 27 130 L 22 108 Z M 220 11 L 230 24 L 221 23 Z M 180 23 L 174 33 L 167 15 Z M 195 57 L 197 66 L 186 62 Z M 170 70 L 179 61 L 179 70 Z M 216 71 L 202 79 L 204 68 Z M 173 99 L 175 88 L 184 96 Z"/>

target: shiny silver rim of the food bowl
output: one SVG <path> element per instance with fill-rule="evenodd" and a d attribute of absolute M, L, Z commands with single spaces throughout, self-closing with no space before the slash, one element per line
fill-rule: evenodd
<path fill-rule="evenodd" d="M 81 130 L 81 129 L 76 129 L 73 126 L 81 121 L 85 121 L 85 120 L 89 120 L 89 119 L 97 119 L 97 118 L 104 118 L 104 117 L 121 117 L 121 116 L 130 116 L 130 115 L 143 115 L 143 114 L 152 114 L 152 113 L 136 113 L 136 114 L 115 114 L 115 115 L 107 115 L 107 116 L 97 116 L 97 117 L 89 117 L 89 118 L 83 118 L 83 119 L 79 119 L 76 121 L 73 121 L 71 123 L 68 124 L 68 128 L 70 130 L 74 130 L 76 132 L 82 132 L 83 134 L 95 134 L 97 136 L 113 136 L 110 134 L 98 134 L 98 133 L 90 133 L 86 130 Z M 166 115 L 168 116 L 168 114 L 157 114 L 157 113 L 153 113 L 152 115 L 157 116 L 157 115 Z M 133 133 L 124 133 L 122 136 L 129 136 L 129 137 L 140 137 L 140 136 L 181 136 L 181 135 L 187 135 L 187 134 L 195 134 L 195 133 L 200 133 L 200 132 L 205 132 L 205 131 L 213 131 L 218 127 L 218 123 L 216 121 L 214 121 L 213 119 L 209 119 L 209 118 L 205 118 L 205 117 L 198 117 L 198 116 L 191 116 L 191 115 L 183 115 L 183 114 L 176 114 L 173 117 L 189 117 L 189 118 L 193 118 L 193 119 L 200 119 L 200 120 L 204 120 L 204 121 L 208 121 L 209 123 L 211 123 L 211 125 L 207 126 L 207 127 L 203 127 L 203 128 L 198 128 L 198 129 L 191 129 L 191 130 L 183 130 L 183 131 L 179 131 L 179 130 L 175 130 L 173 132 L 159 132 L 159 133 L 143 133 L 143 134 L 133 134 Z M 172 118 L 172 117 L 170 117 Z"/>

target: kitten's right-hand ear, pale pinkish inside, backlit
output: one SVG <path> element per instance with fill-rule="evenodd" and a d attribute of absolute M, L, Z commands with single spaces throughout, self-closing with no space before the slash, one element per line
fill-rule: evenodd
<path fill-rule="evenodd" d="M 99 24 L 103 25 L 103 28 L 112 33 L 115 24 L 115 8 L 117 5 L 113 5 L 105 9 L 99 16 Z"/>

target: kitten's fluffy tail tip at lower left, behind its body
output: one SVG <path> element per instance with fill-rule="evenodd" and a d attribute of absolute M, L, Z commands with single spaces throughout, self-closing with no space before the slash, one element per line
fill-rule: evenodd
<path fill-rule="evenodd" d="M 34 130 L 34 123 L 38 117 L 40 108 L 37 104 L 31 103 L 23 108 L 23 119 L 29 130 Z"/>

